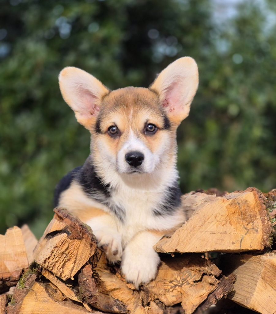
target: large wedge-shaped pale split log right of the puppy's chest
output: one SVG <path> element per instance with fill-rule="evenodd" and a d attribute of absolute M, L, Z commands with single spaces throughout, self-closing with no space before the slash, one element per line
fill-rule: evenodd
<path fill-rule="evenodd" d="M 271 244 L 266 198 L 256 188 L 217 197 L 203 192 L 183 195 L 188 221 L 162 238 L 157 252 L 244 252 Z"/>

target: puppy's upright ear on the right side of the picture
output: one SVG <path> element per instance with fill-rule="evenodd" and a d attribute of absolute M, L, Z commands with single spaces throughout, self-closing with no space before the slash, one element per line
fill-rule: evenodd
<path fill-rule="evenodd" d="M 198 88 L 198 67 L 191 57 L 179 58 L 167 66 L 151 84 L 162 106 L 176 125 L 184 120 Z"/>

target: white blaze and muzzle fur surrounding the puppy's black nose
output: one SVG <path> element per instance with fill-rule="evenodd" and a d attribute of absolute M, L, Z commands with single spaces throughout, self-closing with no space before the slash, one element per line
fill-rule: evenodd
<path fill-rule="evenodd" d="M 136 169 L 130 166 L 125 160 L 125 155 L 130 152 L 140 152 L 144 155 L 144 160 L 141 166 Z M 119 150 L 117 155 L 117 168 L 120 173 L 128 173 L 137 170 L 142 173 L 151 173 L 154 171 L 159 162 L 159 157 L 153 154 L 150 149 L 141 141 L 135 133 L 130 129 L 130 134 L 123 147 Z"/>

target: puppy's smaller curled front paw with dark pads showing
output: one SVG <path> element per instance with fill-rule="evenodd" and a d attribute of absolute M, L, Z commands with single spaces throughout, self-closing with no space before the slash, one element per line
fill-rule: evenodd
<path fill-rule="evenodd" d="M 119 233 L 103 232 L 98 238 L 99 248 L 105 252 L 107 259 L 111 263 L 121 260 L 123 249 L 122 239 Z"/>

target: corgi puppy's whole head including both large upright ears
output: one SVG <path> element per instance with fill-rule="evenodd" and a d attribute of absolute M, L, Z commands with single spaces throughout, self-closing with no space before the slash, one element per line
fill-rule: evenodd
<path fill-rule="evenodd" d="M 194 59 L 164 69 L 147 88 L 110 91 L 92 75 L 65 68 L 61 93 L 91 135 L 91 152 L 122 175 L 152 173 L 175 154 L 176 129 L 188 116 L 198 86 Z"/>

